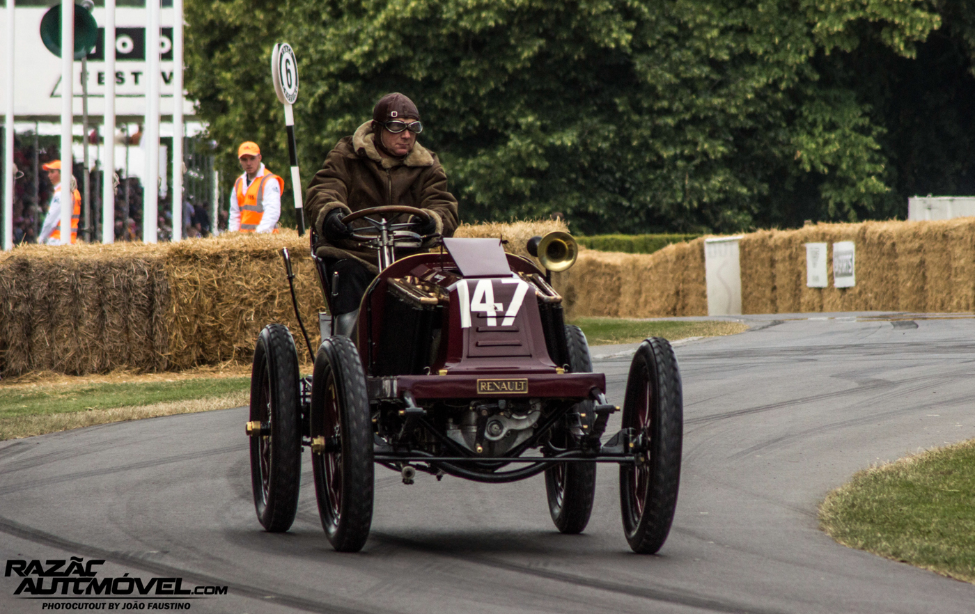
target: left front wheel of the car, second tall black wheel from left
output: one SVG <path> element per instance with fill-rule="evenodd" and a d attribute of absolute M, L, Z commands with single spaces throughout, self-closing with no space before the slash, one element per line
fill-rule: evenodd
<path fill-rule="evenodd" d="M 311 435 L 328 441 L 311 457 L 322 527 L 332 548 L 359 552 L 372 525 L 372 422 L 366 374 L 348 337 L 329 337 L 318 348 Z"/>

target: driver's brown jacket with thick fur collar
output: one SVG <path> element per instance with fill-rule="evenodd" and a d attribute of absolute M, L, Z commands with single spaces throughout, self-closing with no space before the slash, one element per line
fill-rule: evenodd
<path fill-rule="evenodd" d="M 447 173 L 437 155 L 417 142 L 405 158 L 383 157 L 376 150 L 374 137 L 369 121 L 352 136 L 339 140 L 305 192 L 305 207 L 320 237 L 317 253 L 331 258 L 358 258 L 373 273 L 377 272 L 373 251 L 356 249 L 358 244 L 354 241 L 336 245 L 326 242 L 323 224 L 330 211 L 352 212 L 385 205 L 416 207 L 430 212 L 437 232 L 445 237 L 453 235 L 458 223 L 457 200 L 447 190 Z M 408 219 L 409 215 L 403 214 L 391 221 Z M 352 222 L 353 228 L 368 225 L 365 220 Z"/>

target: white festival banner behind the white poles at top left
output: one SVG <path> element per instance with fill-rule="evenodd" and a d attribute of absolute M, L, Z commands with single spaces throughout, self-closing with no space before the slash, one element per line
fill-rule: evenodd
<path fill-rule="evenodd" d="M 14 113 L 19 117 L 53 117 L 60 114 L 60 59 L 41 41 L 41 18 L 46 7 L 17 7 L 17 50 L 14 54 Z M 145 9 L 123 7 L 115 10 L 115 113 L 136 116 L 145 113 Z M 160 51 L 160 101 L 163 115 L 173 114 L 172 9 L 162 10 Z M 104 9 L 92 15 L 98 22 L 98 47 L 88 58 L 88 112 L 104 112 Z M 0 24 L 6 24 L 6 11 L 0 11 Z M 0 25 L 0 31 L 2 30 Z M 74 62 L 74 114 L 81 115 L 81 60 Z M 183 113 L 193 114 L 193 104 L 183 103 Z"/>

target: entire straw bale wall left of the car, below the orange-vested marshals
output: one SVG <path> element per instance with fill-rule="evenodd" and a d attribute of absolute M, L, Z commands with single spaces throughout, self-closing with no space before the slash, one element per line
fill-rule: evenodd
<path fill-rule="evenodd" d="M 279 253 L 292 252 L 312 343 L 324 299 L 307 239 L 224 235 L 178 244 L 25 246 L 0 258 L 0 373 L 182 369 L 250 361 L 260 328 L 292 327 Z"/>

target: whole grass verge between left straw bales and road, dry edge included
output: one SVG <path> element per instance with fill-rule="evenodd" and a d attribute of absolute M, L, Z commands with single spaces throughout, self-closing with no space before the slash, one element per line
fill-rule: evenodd
<path fill-rule="evenodd" d="M 104 379 L 104 378 L 102 378 Z M 247 404 L 249 377 L 57 377 L 0 386 L 0 441 Z"/>

